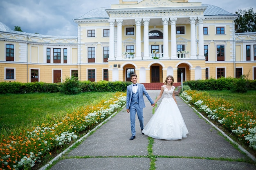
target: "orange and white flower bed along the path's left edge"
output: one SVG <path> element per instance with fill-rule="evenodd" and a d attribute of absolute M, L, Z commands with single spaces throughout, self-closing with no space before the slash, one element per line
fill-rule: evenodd
<path fill-rule="evenodd" d="M 97 105 L 76 108 L 62 121 L 42 124 L 33 129 L 9 136 L 0 143 L 0 170 L 30 169 L 45 155 L 77 139 L 79 132 L 91 130 L 126 104 L 125 93 L 117 92 L 113 98 Z"/>

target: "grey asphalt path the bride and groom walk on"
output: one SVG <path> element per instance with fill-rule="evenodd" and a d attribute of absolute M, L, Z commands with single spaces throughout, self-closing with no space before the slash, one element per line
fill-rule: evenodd
<path fill-rule="evenodd" d="M 148 91 L 152 99 L 155 99 L 159 92 Z M 153 107 L 145 96 L 144 98 L 146 104 L 144 126 L 146 126 L 152 117 Z M 200 117 L 180 97 L 176 99 L 189 134 L 187 138 L 181 140 L 154 139 L 153 155 L 159 156 L 155 161 L 157 170 L 256 170 L 253 164 L 236 161 L 248 157 L 219 135 L 216 128 Z M 160 103 L 161 99 L 157 104 Z M 141 134 L 137 118 L 135 124 L 136 138 L 130 141 L 130 115 L 124 107 L 79 146 L 68 152 L 51 170 L 150 169 L 148 136 Z M 77 158 L 84 156 L 90 158 Z M 231 161 L 223 161 L 229 159 Z"/>

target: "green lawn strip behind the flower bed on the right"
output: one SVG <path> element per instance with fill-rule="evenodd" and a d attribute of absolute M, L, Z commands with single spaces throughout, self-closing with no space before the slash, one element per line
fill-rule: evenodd
<path fill-rule="evenodd" d="M 221 97 L 238 110 L 250 110 L 256 114 L 256 91 L 233 93 L 231 91 L 207 91 L 212 97 Z"/>

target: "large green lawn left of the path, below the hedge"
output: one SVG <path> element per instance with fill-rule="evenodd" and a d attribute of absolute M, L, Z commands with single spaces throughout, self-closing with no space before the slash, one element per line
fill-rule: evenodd
<path fill-rule="evenodd" d="M 94 104 L 113 92 L 90 92 L 79 95 L 31 93 L 0 95 L 0 130 L 8 135 L 45 122 L 61 119 L 79 106 Z"/>

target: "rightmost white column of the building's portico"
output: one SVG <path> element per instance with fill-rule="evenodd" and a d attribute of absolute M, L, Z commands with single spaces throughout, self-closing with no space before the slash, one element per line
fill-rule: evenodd
<path fill-rule="evenodd" d="M 198 39 L 199 39 L 199 55 L 198 59 L 204 59 L 204 17 L 198 17 Z"/>

